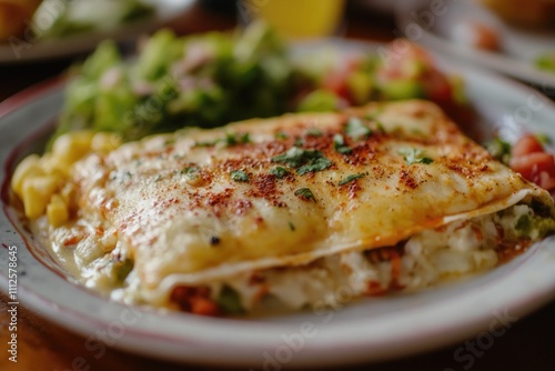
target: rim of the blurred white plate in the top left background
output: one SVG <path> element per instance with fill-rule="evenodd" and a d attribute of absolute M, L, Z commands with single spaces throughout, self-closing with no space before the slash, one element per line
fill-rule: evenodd
<path fill-rule="evenodd" d="M 137 20 L 105 31 L 92 31 L 68 36 L 49 41 L 34 41 L 26 37 L 11 42 L 0 43 L 0 63 L 19 63 L 69 57 L 94 49 L 103 39 L 119 41 L 134 40 L 138 36 L 153 31 L 185 11 L 194 0 L 148 0 L 155 13 L 147 19 Z"/>

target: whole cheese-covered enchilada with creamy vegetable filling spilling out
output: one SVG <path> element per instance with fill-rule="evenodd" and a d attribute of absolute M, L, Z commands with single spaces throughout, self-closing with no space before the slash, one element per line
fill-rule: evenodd
<path fill-rule="evenodd" d="M 426 288 L 555 227 L 546 191 L 424 101 L 184 130 L 50 168 L 61 180 L 33 225 L 78 280 L 203 314 Z"/>

